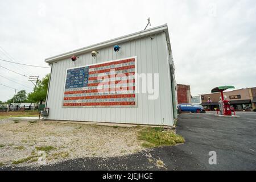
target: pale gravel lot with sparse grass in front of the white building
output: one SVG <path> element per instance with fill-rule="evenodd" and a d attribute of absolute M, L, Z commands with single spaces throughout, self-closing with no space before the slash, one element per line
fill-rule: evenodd
<path fill-rule="evenodd" d="M 56 121 L 0 120 L 0 167 L 39 166 L 84 157 L 108 158 L 144 150 L 139 127 L 113 127 Z M 43 149 L 41 149 L 41 148 Z"/>

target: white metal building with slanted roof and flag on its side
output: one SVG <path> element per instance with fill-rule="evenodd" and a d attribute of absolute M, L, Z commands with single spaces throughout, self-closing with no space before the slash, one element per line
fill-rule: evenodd
<path fill-rule="evenodd" d="M 121 47 L 118 52 L 113 49 L 115 45 Z M 92 57 L 92 51 L 98 52 L 97 57 Z M 72 56 L 79 58 L 72 61 Z M 84 90 L 88 85 L 80 85 L 80 87 L 76 85 L 75 87 L 78 88 L 73 91 L 73 82 L 77 81 L 79 85 L 79 80 L 72 80 L 79 77 L 74 76 L 77 72 L 80 71 L 82 79 L 85 82 L 87 81 L 86 84 L 93 85 L 89 80 L 90 77 L 85 78 L 84 75 L 89 72 L 89 74 L 95 73 L 95 76 L 100 73 L 97 72 L 98 69 L 105 69 L 98 67 L 108 67 L 108 63 L 117 65 L 119 62 L 115 61 L 120 60 L 133 61 L 129 62 L 129 65 L 132 65 L 129 68 L 134 69 L 135 73 L 146 73 L 146 75 L 147 73 L 159 73 L 159 97 L 155 100 L 148 100 L 151 93 L 139 92 L 135 96 L 133 95 L 134 98 L 123 98 L 125 101 L 127 99 L 133 101 L 125 102 L 124 105 L 118 105 L 121 102 L 115 102 L 117 105 L 105 104 L 103 106 L 97 104 L 101 106 L 95 106 L 95 102 L 99 102 L 97 99 L 93 100 L 94 104 L 91 104 L 91 101 L 83 100 L 87 92 Z M 49 57 L 45 61 L 51 64 L 52 67 L 46 101 L 46 107 L 49 107 L 49 115 L 46 119 L 139 125 L 172 126 L 174 124 L 174 118 L 177 117 L 176 81 L 167 24 Z M 141 78 L 136 78 L 135 82 L 141 85 L 142 81 L 139 81 L 139 79 Z M 86 98 L 100 97 L 93 97 L 91 96 L 92 93 L 86 94 Z M 73 100 L 78 98 L 80 100 Z M 119 98 L 112 100 L 115 99 L 118 100 Z M 100 101 L 104 101 L 104 99 Z M 81 104 L 82 102 L 84 104 Z M 86 102 L 89 102 L 89 104 L 86 104 Z"/>

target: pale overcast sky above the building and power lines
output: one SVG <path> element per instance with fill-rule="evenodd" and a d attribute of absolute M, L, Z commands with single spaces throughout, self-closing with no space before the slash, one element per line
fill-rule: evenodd
<path fill-rule="evenodd" d="M 192 96 L 220 85 L 256 86 L 254 0 L 1 0 L 0 47 L 7 53 L 0 48 L 0 59 L 47 66 L 47 57 L 141 31 L 148 16 L 151 27 L 168 24 L 176 81 L 191 85 Z M 0 65 L 40 78 L 50 72 L 2 61 Z M 0 84 L 27 92 L 34 86 L 1 67 Z M 0 93 L 0 100 L 6 101 L 14 90 L 0 85 Z"/>

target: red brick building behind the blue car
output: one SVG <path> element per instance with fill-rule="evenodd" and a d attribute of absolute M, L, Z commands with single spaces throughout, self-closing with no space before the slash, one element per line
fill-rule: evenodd
<path fill-rule="evenodd" d="M 178 104 L 191 104 L 191 93 L 189 85 L 177 84 L 177 102 Z"/>

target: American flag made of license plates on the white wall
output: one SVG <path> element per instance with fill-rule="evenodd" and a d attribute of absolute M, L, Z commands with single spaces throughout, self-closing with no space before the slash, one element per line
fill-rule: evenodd
<path fill-rule="evenodd" d="M 136 57 L 67 69 L 64 107 L 133 107 Z"/>

